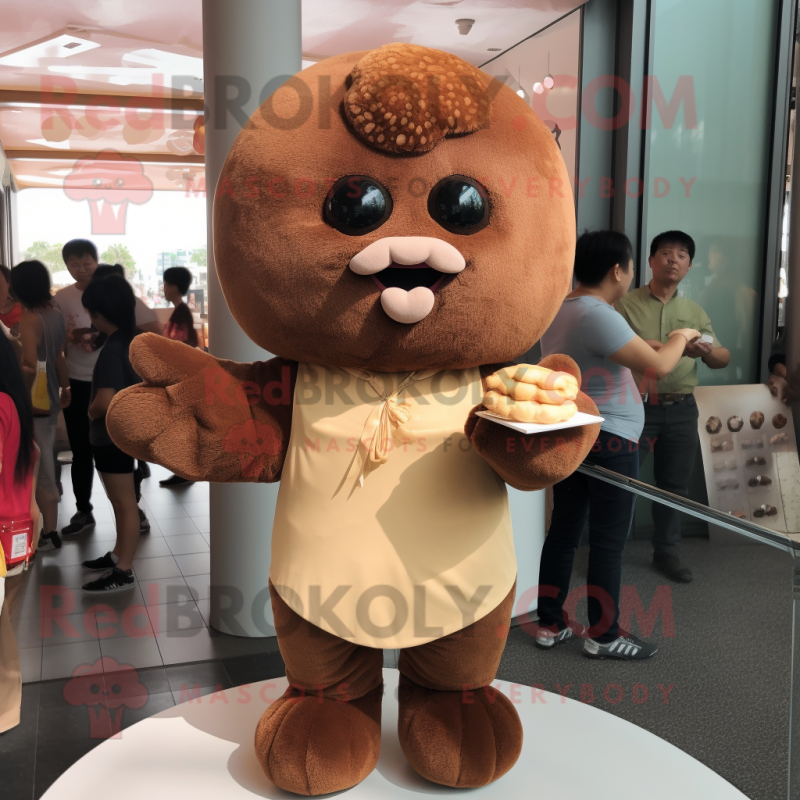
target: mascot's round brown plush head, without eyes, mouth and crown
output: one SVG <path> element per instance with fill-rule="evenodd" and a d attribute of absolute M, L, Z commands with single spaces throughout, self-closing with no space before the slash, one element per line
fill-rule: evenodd
<path fill-rule="evenodd" d="M 575 209 L 550 131 L 495 84 L 486 127 L 416 157 L 380 152 L 329 99 L 344 97 L 362 57 L 303 70 L 236 139 L 214 201 L 214 254 L 233 315 L 269 352 L 314 364 L 400 372 L 516 358 L 550 324 L 572 275 Z M 299 127 L 275 124 L 304 116 Z M 428 213 L 431 188 L 453 174 L 488 193 L 489 224 L 470 236 L 446 231 Z M 323 220 L 331 182 L 347 175 L 375 178 L 392 195 L 389 219 L 363 236 Z M 385 236 L 437 237 L 466 259 L 415 325 L 388 319 L 375 282 L 348 269 Z"/>

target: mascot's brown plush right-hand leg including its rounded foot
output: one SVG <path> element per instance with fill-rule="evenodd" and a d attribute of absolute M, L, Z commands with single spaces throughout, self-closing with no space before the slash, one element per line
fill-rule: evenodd
<path fill-rule="evenodd" d="M 485 786 L 519 758 L 519 716 L 490 685 L 508 635 L 514 593 L 469 627 L 400 654 L 400 745 L 429 781 Z"/>

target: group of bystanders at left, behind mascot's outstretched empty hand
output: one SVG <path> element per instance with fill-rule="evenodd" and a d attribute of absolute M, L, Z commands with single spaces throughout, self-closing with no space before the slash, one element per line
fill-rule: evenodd
<path fill-rule="evenodd" d="M 105 413 L 117 392 L 139 382 L 128 357 L 134 336 L 157 333 L 198 346 L 194 319 L 183 303 L 192 275 L 184 267 L 165 271 L 164 292 L 175 310 L 162 329 L 155 312 L 135 297 L 124 268 L 99 264 L 92 242 L 72 240 L 62 257 L 75 282 L 55 294 L 50 273 L 39 261 L 0 269 L 0 322 L 4 346 L 11 348 L 27 386 L 24 400 L 31 406 L 32 437 L 42 454 L 35 492 L 43 524 L 38 549 L 59 549 L 63 538 L 94 526 L 91 497 L 96 469 L 114 510 L 117 543 L 102 558 L 83 564 L 102 573 L 83 590 L 103 593 L 133 583 L 136 543 L 150 528 L 138 507 L 148 466 L 135 463 L 113 444 L 105 429 Z M 61 486 L 54 449 L 60 411 L 72 451 L 77 510 L 59 532 Z M 174 476 L 162 484 L 185 482 Z M 0 517 L 5 517 L 5 496 L 0 503 Z"/>

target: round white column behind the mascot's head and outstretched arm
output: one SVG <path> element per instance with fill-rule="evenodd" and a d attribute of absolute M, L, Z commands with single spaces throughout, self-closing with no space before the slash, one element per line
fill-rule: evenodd
<path fill-rule="evenodd" d="M 203 0 L 206 103 L 209 346 L 219 358 L 263 361 L 236 324 L 222 295 L 213 256 L 212 207 L 222 165 L 243 117 L 259 106 L 264 86 L 301 67 L 300 0 Z M 241 112 L 215 113 L 230 98 Z M 243 269 L 247 265 L 242 265 Z M 267 578 L 277 485 L 211 484 L 211 624 L 224 633 L 270 636 Z"/>

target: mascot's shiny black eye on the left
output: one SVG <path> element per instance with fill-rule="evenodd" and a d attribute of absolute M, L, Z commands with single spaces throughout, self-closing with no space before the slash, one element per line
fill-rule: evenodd
<path fill-rule="evenodd" d="M 392 196 L 385 186 L 366 175 L 340 178 L 325 199 L 324 218 L 348 236 L 380 228 L 392 213 Z"/>

